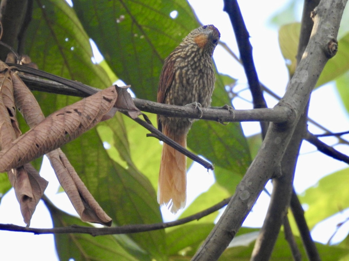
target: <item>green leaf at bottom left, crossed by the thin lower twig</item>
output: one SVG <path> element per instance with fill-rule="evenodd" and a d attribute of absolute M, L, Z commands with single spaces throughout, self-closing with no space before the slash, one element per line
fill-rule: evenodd
<path fill-rule="evenodd" d="M 92 227 L 50 203 L 46 203 L 46 206 L 50 210 L 54 227 Z M 60 260 L 139 260 L 129 254 L 112 235 L 93 237 L 88 234 L 55 234 L 54 240 Z"/>

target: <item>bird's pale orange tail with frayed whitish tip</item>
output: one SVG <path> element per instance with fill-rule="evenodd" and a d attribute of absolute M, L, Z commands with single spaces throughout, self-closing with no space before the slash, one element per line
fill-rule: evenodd
<path fill-rule="evenodd" d="M 187 134 L 176 134 L 163 126 L 163 133 L 184 148 L 187 147 Z M 187 200 L 187 157 L 164 143 L 161 153 L 157 201 L 167 205 L 172 213 L 185 207 Z"/>

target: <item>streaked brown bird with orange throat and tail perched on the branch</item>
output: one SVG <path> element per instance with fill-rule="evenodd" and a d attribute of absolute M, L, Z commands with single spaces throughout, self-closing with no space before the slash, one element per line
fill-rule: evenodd
<path fill-rule="evenodd" d="M 208 107 L 215 84 L 212 55 L 221 37 L 213 25 L 191 31 L 165 59 L 157 102 L 173 105 L 195 104 Z M 157 116 L 158 129 L 186 148 L 187 133 L 193 120 Z M 186 204 L 187 158 L 168 144 L 163 145 L 157 200 L 177 213 Z"/>

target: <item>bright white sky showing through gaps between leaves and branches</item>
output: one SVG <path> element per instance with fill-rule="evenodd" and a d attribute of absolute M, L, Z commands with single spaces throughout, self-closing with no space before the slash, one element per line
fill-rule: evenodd
<path fill-rule="evenodd" d="M 221 32 L 221 41 L 227 43 L 233 52 L 238 55 L 238 49 L 235 44 L 235 37 L 229 17 L 222 11 L 223 1 L 190 0 L 189 2 L 193 6 L 201 23 L 214 24 Z M 300 21 L 303 1 L 298 2 L 300 3 L 297 5 L 299 9 L 298 20 Z M 287 85 L 288 72 L 279 50 L 277 28 L 275 26 L 270 26 L 269 21 L 270 17 L 274 15 L 277 10 L 287 6 L 288 3 L 289 0 L 239 1 L 246 27 L 251 36 L 250 40 L 253 46 L 254 61 L 259 79 L 263 84 L 280 96 L 283 95 Z M 238 86 L 235 90 L 243 90 L 247 87 L 243 68 L 220 46 L 215 50 L 214 59 L 218 71 L 239 79 Z M 248 90 L 241 92 L 240 95 L 247 98 L 247 100 L 251 100 Z M 266 96 L 266 100 L 269 107 L 277 103 L 276 100 L 269 96 Z M 236 109 L 252 108 L 251 103 L 247 103 L 239 98 L 233 101 L 233 105 Z M 330 114 L 336 115 L 336 117 L 327 117 Z M 332 85 L 317 89 L 312 94 L 309 116 L 333 132 L 341 132 L 349 129 L 348 116 L 342 104 L 338 102 L 338 94 Z M 243 129 L 248 136 L 260 132 L 257 123 L 243 123 Z M 309 129 L 314 134 L 322 133 L 321 130 L 312 125 L 309 126 Z M 333 138 L 328 138 L 324 141 L 328 144 L 334 144 L 336 142 Z M 343 153 L 349 154 L 348 147 L 343 145 L 336 146 L 336 149 L 341 149 Z M 321 155 L 321 153 L 316 152 L 316 149 L 312 145 L 304 142 L 296 169 L 294 182 L 296 191 L 302 193 L 306 188 L 316 185 L 321 177 L 346 167 L 346 164 Z M 53 171 L 46 169 L 45 172 L 41 172 L 40 174 L 49 181 L 49 186 L 45 194 L 53 203 L 68 213 L 75 213 L 66 195 L 64 193 L 57 194 L 59 183 Z M 201 182 L 198 183 L 198 180 Z M 214 175 L 212 175 L 212 173 L 207 174 L 206 169 L 200 166 L 193 167 L 188 173 L 187 205 L 189 205 L 198 193 L 206 191 L 213 182 Z M 270 192 L 271 187 L 270 184 L 267 185 L 267 189 Z M 247 217 L 244 223 L 245 226 L 256 227 L 262 225 L 268 200 L 269 198 L 266 193 L 262 192 L 257 204 Z M 348 211 L 344 211 L 342 214 L 332 217 L 329 222 L 324 222 L 315 227 L 312 231 L 314 240 L 326 243 L 333 234 L 335 225 L 346 219 L 346 214 L 348 214 L 346 212 Z M 25 226 L 13 190 L 10 190 L 1 200 L 0 213 L 0 223 L 12 223 Z M 167 211 L 167 209 L 163 209 L 163 217 L 165 221 L 176 218 Z M 31 227 L 52 227 L 51 217 L 42 202 L 39 203 L 32 217 Z M 326 229 L 324 229 L 325 227 Z M 332 242 L 341 240 L 343 235 L 346 236 L 348 229 L 349 225 L 343 226 L 342 230 L 344 234 L 337 235 Z M 2 238 L 1 256 L 3 260 L 24 260 L 28 258 L 35 258 L 35 260 L 39 261 L 57 260 L 53 235 L 32 235 L 30 233 L 0 231 L 0 237 Z"/>

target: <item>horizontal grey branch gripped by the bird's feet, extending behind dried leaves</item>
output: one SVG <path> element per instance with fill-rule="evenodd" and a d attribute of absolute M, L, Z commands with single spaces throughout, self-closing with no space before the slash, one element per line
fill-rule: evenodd
<path fill-rule="evenodd" d="M 50 73 L 29 68 L 24 65 L 8 64 L 14 66 L 18 71 L 34 74 L 36 76 L 48 78 L 44 80 L 37 77 L 31 77 L 21 74 L 21 79 L 28 85 L 31 90 L 39 90 L 49 93 L 73 95 L 79 97 L 90 96 L 100 89 L 84 85 L 81 82 L 68 80 Z M 253 110 L 234 110 L 230 112 L 225 109 L 202 108 L 202 115 L 194 106 L 177 106 L 170 104 L 157 103 L 138 98 L 133 98 L 133 102 L 138 109 L 145 112 L 162 114 L 164 116 L 213 120 L 218 122 L 230 121 L 273 121 L 282 123 L 291 117 L 288 108 L 272 109 L 253 109 Z"/>

